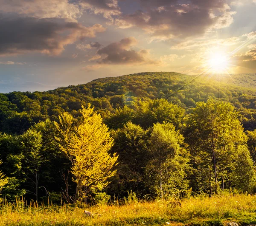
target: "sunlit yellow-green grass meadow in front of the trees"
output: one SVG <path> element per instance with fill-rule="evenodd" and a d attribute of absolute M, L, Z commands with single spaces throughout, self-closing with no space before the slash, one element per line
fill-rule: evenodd
<path fill-rule="evenodd" d="M 83 214 L 84 209 L 95 213 Z M 24 206 L 22 201 L 0 205 L 0 226 L 128 226 L 191 225 L 220 226 L 228 222 L 256 224 L 255 195 L 199 196 L 170 205 L 167 201 L 131 201 L 125 205 Z"/>

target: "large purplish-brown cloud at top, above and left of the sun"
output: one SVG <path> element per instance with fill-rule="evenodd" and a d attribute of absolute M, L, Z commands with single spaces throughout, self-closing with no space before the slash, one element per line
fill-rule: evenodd
<path fill-rule="evenodd" d="M 235 12 L 223 0 L 190 0 L 178 4 L 177 0 L 140 0 L 145 10 L 125 14 L 117 18 L 119 28 L 137 26 L 151 40 L 169 40 L 205 34 L 216 28 L 225 28 L 233 23 Z"/>

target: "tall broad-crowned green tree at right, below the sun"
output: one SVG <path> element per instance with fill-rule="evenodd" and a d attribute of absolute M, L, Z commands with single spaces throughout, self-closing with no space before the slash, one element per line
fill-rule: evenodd
<path fill-rule="evenodd" d="M 203 181 L 203 184 L 205 180 L 208 181 L 210 195 L 212 178 L 215 193 L 218 192 L 220 181 L 224 189 L 224 180 L 237 148 L 245 145 L 247 140 L 234 107 L 212 99 L 207 103 L 198 102 L 189 116 L 186 138 L 190 144 L 192 162 L 197 175 L 201 177 L 199 181 Z"/>

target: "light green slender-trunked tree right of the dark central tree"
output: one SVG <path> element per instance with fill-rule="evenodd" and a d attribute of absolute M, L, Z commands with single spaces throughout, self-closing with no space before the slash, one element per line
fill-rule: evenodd
<path fill-rule="evenodd" d="M 148 175 L 152 186 L 163 195 L 181 195 L 188 190 L 186 171 L 189 153 L 186 152 L 184 138 L 175 126 L 164 122 L 154 124 L 149 139 L 152 160 L 148 163 Z"/>

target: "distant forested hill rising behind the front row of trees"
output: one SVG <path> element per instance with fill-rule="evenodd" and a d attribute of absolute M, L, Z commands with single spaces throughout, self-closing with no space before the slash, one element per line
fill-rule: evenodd
<path fill-rule="evenodd" d="M 256 74 L 188 76 L 171 72 L 146 72 L 96 79 L 83 85 L 47 92 L 0 93 L 0 128 L 23 133 L 47 118 L 55 120 L 64 111 L 77 113 L 91 103 L 108 118 L 119 107 L 134 108 L 138 100 L 167 99 L 186 110 L 209 98 L 232 103 L 243 116 L 247 130 L 256 128 Z M 108 122 L 108 120 L 106 120 Z"/>

